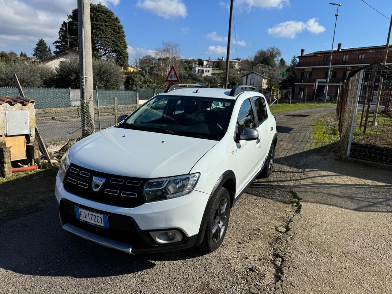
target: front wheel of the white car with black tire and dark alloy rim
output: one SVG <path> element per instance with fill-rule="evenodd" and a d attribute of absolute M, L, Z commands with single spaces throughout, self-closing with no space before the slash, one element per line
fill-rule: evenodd
<path fill-rule="evenodd" d="M 207 216 L 204 239 L 199 246 L 206 252 L 212 252 L 220 247 L 225 238 L 230 218 L 229 191 L 221 187 L 213 197 L 214 200 Z"/>

